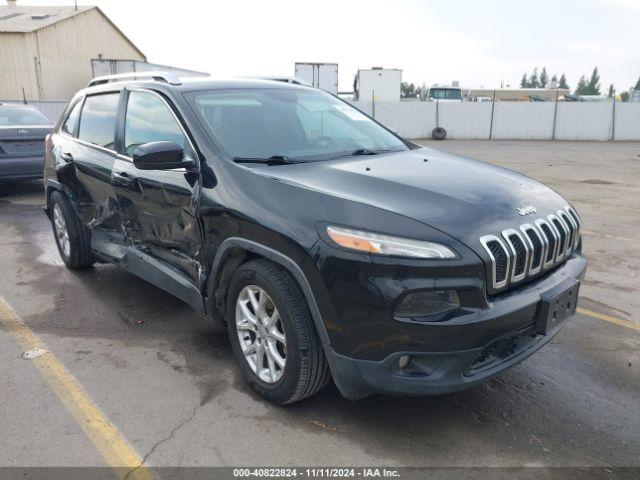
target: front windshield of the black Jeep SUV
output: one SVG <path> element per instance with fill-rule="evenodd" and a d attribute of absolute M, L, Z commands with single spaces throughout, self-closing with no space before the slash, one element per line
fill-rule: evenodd
<path fill-rule="evenodd" d="M 408 150 L 396 136 L 321 91 L 255 89 L 187 94 L 217 145 L 234 158 L 314 161 Z"/>

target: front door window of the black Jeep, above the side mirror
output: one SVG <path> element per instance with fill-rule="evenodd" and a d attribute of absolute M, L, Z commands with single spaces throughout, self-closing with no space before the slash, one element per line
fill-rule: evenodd
<path fill-rule="evenodd" d="M 164 100 L 150 92 L 129 93 L 124 123 L 125 154 L 132 156 L 145 143 L 171 140 L 187 148 L 187 138 Z"/>

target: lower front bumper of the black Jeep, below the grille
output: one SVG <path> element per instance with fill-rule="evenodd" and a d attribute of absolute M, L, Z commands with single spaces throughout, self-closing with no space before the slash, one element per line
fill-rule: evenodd
<path fill-rule="evenodd" d="M 558 333 L 562 324 L 547 335 L 534 333 L 540 296 L 563 282 L 582 279 L 586 266 L 586 259 L 574 254 L 538 282 L 460 317 L 463 322 L 425 324 L 427 331 L 448 339 L 437 348 L 400 349 L 381 360 L 369 360 L 341 355 L 325 346 L 334 381 L 345 397 L 354 400 L 372 393 L 439 395 L 484 382 L 521 362 Z M 411 356 L 405 369 L 398 366 L 402 355 Z"/>

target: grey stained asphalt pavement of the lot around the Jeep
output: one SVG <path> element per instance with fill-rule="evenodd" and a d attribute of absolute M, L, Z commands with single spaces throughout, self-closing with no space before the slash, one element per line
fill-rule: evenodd
<path fill-rule="evenodd" d="M 154 467 L 640 467 L 640 144 L 428 144 L 539 178 L 582 214 L 581 313 L 541 351 L 456 394 L 350 402 L 329 386 L 274 406 L 243 382 L 224 328 L 115 266 L 66 270 L 42 184 L 0 185 L 0 467 L 127 454 Z M 40 360 L 24 358 L 29 342 Z"/>

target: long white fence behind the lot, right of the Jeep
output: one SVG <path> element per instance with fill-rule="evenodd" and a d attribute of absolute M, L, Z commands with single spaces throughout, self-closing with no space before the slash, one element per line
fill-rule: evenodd
<path fill-rule="evenodd" d="M 407 138 L 640 140 L 640 103 L 352 102 Z"/>

